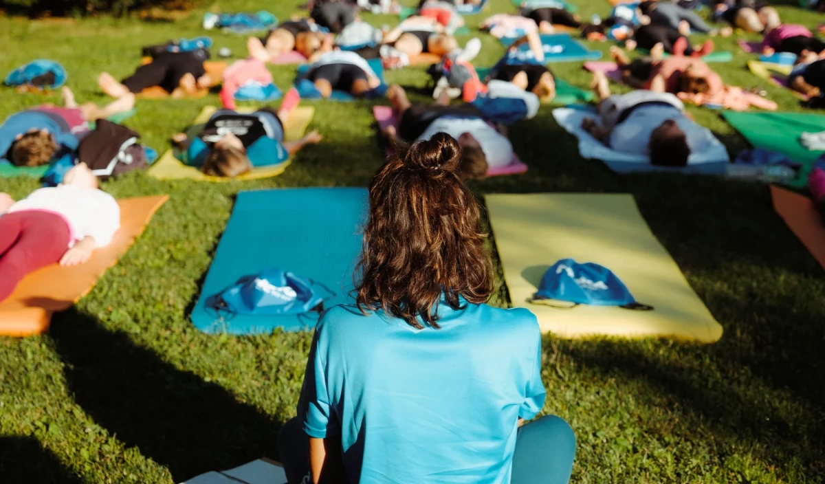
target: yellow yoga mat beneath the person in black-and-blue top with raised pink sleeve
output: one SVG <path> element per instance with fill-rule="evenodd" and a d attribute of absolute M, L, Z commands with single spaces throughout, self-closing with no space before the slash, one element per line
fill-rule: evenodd
<path fill-rule="evenodd" d="M 204 109 L 200 111 L 200 115 L 195 118 L 195 121 L 192 124 L 204 124 L 210 119 L 210 116 L 213 115 L 216 110 L 218 110 L 218 108 L 214 106 L 205 106 Z M 238 112 L 250 113 L 254 110 L 255 108 L 253 107 L 247 107 L 238 109 Z M 287 122 L 284 126 L 285 140 L 293 141 L 304 136 L 304 132 L 306 131 L 307 126 L 309 126 L 309 122 L 312 121 L 314 114 L 315 108 L 312 106 L 296 107 L 290 114 L 289 122 Z M 281 175 L 286 167 L 290 166 L 290 162 L 292 161 L 286 160 L 283 163 L 273 165 L 271 167 L 252 168 L 252 172 L 244 173 L 243 175 L 235 176 L 234 178 L 227 178 L 225 176 L 205 175 L 196 167 L 190 167 L 181 162 L 181 160 L 175 157 L 172 150 L 168 149 L 167 152 L 163 153 L 163 156 L 160 157 L 157 162 L 154 162 L 152 167 L 148 169 L 148 174 L 149 176 L 154 176 L 155 178 L 159 178 L 161 180 L 181 180 L 183 178 L 198 181 L 257 180 L 259 178 L 269 178 L 270 176 Z"/>

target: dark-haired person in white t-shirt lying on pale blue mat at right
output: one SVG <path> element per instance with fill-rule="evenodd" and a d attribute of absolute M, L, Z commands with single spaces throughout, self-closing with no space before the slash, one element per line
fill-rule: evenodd
<path fill-rule="evenodd" d="M 703 151 L 714 137 L 672 94 L 639 89 L 611 96 L 604 73 L 593 73 L 592 87 L 599 122 L 587 118 L 582 129 L 615 151 L 648 155 L 657 166 L 686 167 L 691 152 Z"/>

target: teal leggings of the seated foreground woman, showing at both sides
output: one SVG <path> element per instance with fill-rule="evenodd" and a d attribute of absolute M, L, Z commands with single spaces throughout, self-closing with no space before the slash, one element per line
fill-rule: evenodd
<path fill-rule="evenodd" d="M 299 484 L 309 474 L 309 436 L 297 417 L 281 428 L 278 449 L 288 482 Z M 510 482 L 567 484 L 575 456 L 576 435 L 570 425 L 558 416 L 543 416 L 519 427 Z"/>

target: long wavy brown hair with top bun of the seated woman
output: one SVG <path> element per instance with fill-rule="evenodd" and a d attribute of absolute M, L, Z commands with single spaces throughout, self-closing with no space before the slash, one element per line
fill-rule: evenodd
<path fill-rule="evenodd" d="M 459 175 L 461 147 L 439 133 L 392 155 L 370 183 L 370 219 L 356 274 L 361 312 L 383 309 L 417 329 L 493 292 L 479 204 Z M 419 322 L 420 317 L 424 325 Z"/>

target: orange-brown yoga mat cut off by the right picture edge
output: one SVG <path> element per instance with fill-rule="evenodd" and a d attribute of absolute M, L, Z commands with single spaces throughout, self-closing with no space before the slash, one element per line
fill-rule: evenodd
<path fill-rule="evenodd" d="M 771 185 L 774 209 L 825 269 L 825 224 L 813 200 Z"/>

